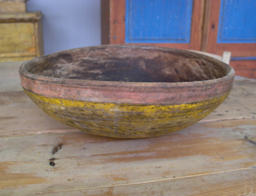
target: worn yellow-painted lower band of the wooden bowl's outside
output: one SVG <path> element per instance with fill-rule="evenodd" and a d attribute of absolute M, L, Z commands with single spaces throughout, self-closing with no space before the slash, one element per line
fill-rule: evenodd
<path fill-rule="evenodd" d="M 52 118 L 90 134 L 146 138 L 179 131 L 214 111 L 228 96 L 173 105 L 97 103 L 49 98 L 25 90 Z"/>

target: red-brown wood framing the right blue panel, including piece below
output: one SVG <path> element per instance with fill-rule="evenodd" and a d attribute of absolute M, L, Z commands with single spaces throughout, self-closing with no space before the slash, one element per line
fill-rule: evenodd
<path fill-rule="evenodd" d="M 232 57 L 256 56 L 256 43 L 217 43 L 221 0 L 206 0 L 202 51 L 222 55 L 230 51 Z M 256 78 L 256 60 L 231 60 L 237 75 Z"/>

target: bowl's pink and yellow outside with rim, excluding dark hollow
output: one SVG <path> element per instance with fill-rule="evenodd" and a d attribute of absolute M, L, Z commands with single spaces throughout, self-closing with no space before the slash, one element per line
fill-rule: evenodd
<path fill-rule="evenodd" d="M 136 83 L 75 80 L 31 73 L 35 65 L 45 65 L 55 56 L 86 54 L 92 49 L 108 47 L 132 50 L 140 46 L 87 47 L 38 57 L 21 65 L 21 85 L 40 109 L 59 122 L 100 136 L 145 138 L 172 133 L 203 119 L 226 99 L 234 83 L 235 72 L 229 65 L 204 55 L 170 48 L 158 50 L 203 58 L 225 70 L 226 76 L 196 82 Z"/>

